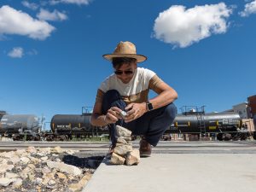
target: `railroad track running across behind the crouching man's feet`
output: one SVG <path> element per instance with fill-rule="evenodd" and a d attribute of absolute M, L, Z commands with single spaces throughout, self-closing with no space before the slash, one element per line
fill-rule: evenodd
<path fill-rule="evenodd" d="M 35 148 L 54 148 L 79 150 L 82 153 L 107 153 L 110 143 L 88 142 L 0 142 L 0 151 L 11 151 L 33 146 Z M 138 141 L 133 148 L 139 148 Z M 256 142 L 160 142 L 153 148 L 157 154 L 255 154 Z"/>

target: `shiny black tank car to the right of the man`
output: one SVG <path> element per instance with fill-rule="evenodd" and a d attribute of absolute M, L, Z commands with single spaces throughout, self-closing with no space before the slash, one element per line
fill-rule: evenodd
<path fill-rule="evenodd" d="M 216 136 L 219 141 L 240 139 L 246 140 L 253 135 L 247 127 L 242 124 L 238 113 L 204 113 L 189 112 L 177 114 L 173 124 L 166 130 L 166 133 L 211 135 Z"/>

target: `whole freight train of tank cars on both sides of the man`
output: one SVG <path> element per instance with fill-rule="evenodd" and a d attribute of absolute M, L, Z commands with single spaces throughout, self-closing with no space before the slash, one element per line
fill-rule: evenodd
<path fill-rule="evenodd" d="M 20 140 L 27 137 L 31 140 L 67 140 L 76 137 L 108 135 L 108 126 L 90 125 L 91 113 L 56 114 L 50 122 L 51 131 L 41 131 L 35 115 L 9 115 L 0 113 L 0 134 Z M 174 122 L 165 135 L 177 134 L 213 134 L 218 140 L 246 139 L 256 132 L 250 132 L 242 124 L 238 113 L 204 113 L 190 111 L 177 114 Z"/>

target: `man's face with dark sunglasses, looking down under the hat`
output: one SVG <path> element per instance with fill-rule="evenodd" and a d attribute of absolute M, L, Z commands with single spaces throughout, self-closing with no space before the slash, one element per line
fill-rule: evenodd
<path fill-rule="evenodd" d="M 124 63 L 119 68 L 115 68 L 115 74 L 124 84 L 128 84 L 137 69 L 137 63 Z"/>

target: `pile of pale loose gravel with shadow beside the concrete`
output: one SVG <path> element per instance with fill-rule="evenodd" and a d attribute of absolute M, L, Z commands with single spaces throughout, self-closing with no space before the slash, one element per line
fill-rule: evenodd
<path fill-rule="evenodd" d="M 29 147 L 0 153 L 0 191 L 81 191 L 104 155 Z"/>

